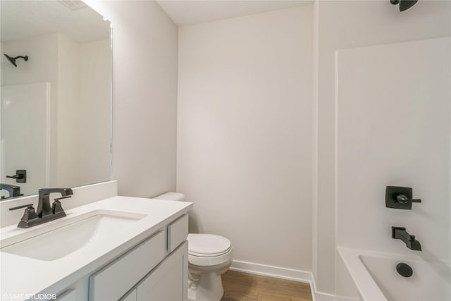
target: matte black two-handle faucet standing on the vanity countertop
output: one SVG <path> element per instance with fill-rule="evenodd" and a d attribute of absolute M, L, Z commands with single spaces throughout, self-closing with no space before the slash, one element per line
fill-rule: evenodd
<path fill-rule="evenodd" d="M 61 197 L 54 199 L 53 204 L 50 206 L 50 194 L 54 192 L 60 193 Z M 43 188 L 39 189 L 37 211 L 33 208 L 33 204 L 13 207 L 10 210 L 26 207 L 22 219 L 20 219 L 17 226 L 18 228 L 30 228 L 66 216 L 66 212 L 61 207 L 60 199 L 66 199 L 72 195 L 73 192 L 70 188 Z"/>

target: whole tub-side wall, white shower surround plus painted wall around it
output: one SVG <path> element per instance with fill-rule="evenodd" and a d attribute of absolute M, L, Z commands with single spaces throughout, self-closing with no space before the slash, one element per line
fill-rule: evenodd
<path fill-rule="evenodd" d="M 404 247 L 402 242 L 388 238 L 390 231 L 387 229 L 395 220 L 399 221 L 399 224 L 393 226 L 406 226 L 407 231 L 412 234 L 421 233 L 421 236 L 420 234 L 417 236 L 420 242 L 421 237 L 424 240 L 425 252 L 421 254 L 446 259 L 443 254 L 448 251 L 449 256 L 449 145 L 447 149 L 440 149 L 437 152 L 434 147 L 424 148 L 424 145 L 418 145 L 418 149 L 424 149 L 423 154 L 419 154 L 418 149 L 409 152 L 405 149 L 405 145 L 402 143 L 399 145 L 393 140 L 393 131 L 399 131 L 401 125 L 395 123 L 392 128 L 388 127 L 390 123 L 394 123 L 393 117 L 388 118 L 386 113 L 380 110 L 381 106 L 390 106 L 399 111 L 402 105 L 406 105 L 406 112 L 409 113 L 406 113 L 405 117 L 403 113 L 400 113 L 400 123 L 403 118 L 407 118 L 407 124 L 413 128 L 405 128 L 404 134 L 398 133 L 400 136 L 404 135 L 401 141 L 407 139 L 405 142 L 412 145 L 413 141 L 425 142 L 432 136 L 443 135 L 444 144 L 440 146 L 440 143 L 435 143 L 434 145 L 446 147 L 446 143 L 449 144 L 446 142 L 449 137 L 445 137 L 445 133 L 447 130 L 449 133 L 450 123 L 449 84 L 447 87 L 440 88 L 443 93 L 431 94 L 433 99 L 429 100 L 429 97 L 425 97 L 419 100 L 414 97 L 416 92 L 419 92 L 416 89 L 423 89 L 421 93 L 424 93 L 427 85 L 416 80 L 413 85 L 419 87 L 412 87 L 412 83 L 403 81 L 403 74 L 407 75 L 412 70 L 415 70 L 414 73 L 421 73 L 420 68 L 430 80 L 435 77 L 446 80 L 444 77 L 447 75 L 446 73 L 442 75 L 429 73 L 431 64 L 424 62 L 425 65 L 421 66 L 419 65 L 421 59 L 416 61 L 412 58 L 412 67 L 406 63 L 403 70 L 395 69 L 398 76 L 393 80 L 399 85 L 391 83 L 386 87 L 383 85 L 385 77 L 381 73 L 387 73 L 386 76 L 389 78 L 394 71 L 390 68 L 400 65 L 394 63 L 390 65 L 390 60 L 381 59 L 385 52 L 381 49 L 382 46 L 378 45 L 387 44 L 387 49 L 394 47 L 395 57 L 397 57 L 402 54 L 397 54 L 396 51 L 402 51 L 402 49 L 407 51 L 409 47 L 414 47 L 415 50 L 416 44 L 412 43 L 407 48 L 398 48 L 395 44 L 450 36 L 451 3 L 419 1 L 408 11 L 400 13 L 396 6 L 390 4 L 390 1 L 316 1 L 315 16 L 318 35 L 316 47 L 319 51 L 316 61 L 318 97 L 314 99 L 315 118 L 318 123 L 318 128 L 315 130 L 318 140 L 318 160 L 317 168 L 314 168 L 317 177 L 314 178 L 316 193 L 314 193 L 313 206 L 316 231 L 314 231 L 313 272 L 316 288 L 319 291 L 333 295 L 353 295 L 354 288 L 347 281 L 347 271 L 342 266 L 335 247 L 340 245 L 371 250 L 375 247 L 374 244 L 379 242 L 378 250 L 409 254 L 413 251 Z M 435 55 L 433 42 L 424 43 L 430 45 L 431 55 Z M 357 47 L 368 47 L 368 49 L 357 49 Z M 413 53 L 416 52 L 413 51 Z M 421 57 L 424 60 L 424 56 Z M 360 59 L 362 64 L 359 63 Z M 378 59 L 380 61 L 376 64 L 377 66 L 371 64 L 372 60 Z M 446 56 L 429 59 L 446 59 Z M 347 69 L 346 66 L 351 68 L 351 63 L 361 68 Z M 376 68 L 378 66 L 380 68 Z M 370 68 L 373 69 L 370 70 Z M 445 69 L 442 70 L 446 70 L 446 66 L 443 68 Z M 354 79 L 363 80 L 363 82 L 357 81 L 353 84 L 343 82 L 344 76 L 348 79 L 354 76 Z M 379 80 L 371 82 L 371 78 L 379 78 Z M 365 82 L 364 79 L 368 80 Z M 335 86 L 337 80 L 338 86 Z M 362 85 L 366 86 L 362 87 Z M 365 91 L 362 92 L 361 89 Z M 393 91 L 393 94 L 390 91 Z M 368 97 L 365 93 L 368 93 Z M 395 95 L 406 97 L 409 93 L 413 93 L 410 99 L 395 97 Z M 371 106 L 374 109 L 369 109 Z M 434 110 L 437 106 L 441 106 L 445 112 L 439 112 L 440 116 L 435 118 Z M 446 113 L 448 113 L 447 116 Z M 420 116 L 423 117 L 420 118 Z M 424 133 L 426 129 L 428 133 Z M 361 139 L 357 139 L 357 135 L 362 135 Z M 393 145 L 373 145 L 376 141 L 384 139 L 392 139 Z M 372 152 L 376 154 L 372 155 Z M 381 152 L 387 154 L 390 162 L 378 159 Z M 350 157 L 351 153 L 354 157 Z M 437 161 L 432 163 L 431 160 L 434 158 Z M 362 159 L 366 159 L 364 164 L 359 161 Z M 360 163 L 357 164 L 357 161 Z M 424 164 L 421 161 L 430 164 L 424 167 L 421 166 Z M 391 165 L 395 162 L 397 164 Z M 440 167 L 437 162 L 443 165 Z M 433 176 L 428 176 L 427 183 L 422 184 L 421 179 L 426 173 L 431 175 L 431 172 Z M 352 183 L 354 183 L 354 190 L 351 189 Z M 435 184 L 438 185 L 437 190 L 433 189 Z M 424 202 L 414 204 L 412 211 L 386 209 L 385 185 L 412 185 L 414 196 L 421 197 Z M 350 195 L 348 192 L 352 191 L 359 194 Z M 368 218 L 360 221 L 359 219 L 363 216 Z M 358 229 L 350 228 L 352 221 L 354 225 L 359 226 Z M 446 227 L 446 225 L 447 230 L 441 229 L 441 226 Z M 385 233 L 385 231 L 388 232 Z M 433 231 L 443 231 L 443 242 L 437 243 L 436 238 L 426 234 Z M 365 236 L 359 239 L 360 235 Z M 374 240 L 369 239 L 374 235 L 376 235 Z M 334 273 L 335 266 L 337 268 Z"/>

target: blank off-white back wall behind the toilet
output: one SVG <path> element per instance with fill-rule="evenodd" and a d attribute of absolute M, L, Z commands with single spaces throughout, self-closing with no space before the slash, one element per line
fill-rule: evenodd
<path fill-rule="evenodd" d="M 311 270 L 311 66 L 311 6 L 179 28 L 177 190 L 235 261 Z"/>

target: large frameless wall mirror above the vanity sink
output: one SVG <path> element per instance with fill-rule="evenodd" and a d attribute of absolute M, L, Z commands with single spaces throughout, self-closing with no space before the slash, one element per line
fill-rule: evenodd
<path fill-rule="evenodd" d="M 76 1 L 74 1 L 76 2 Z M 18 197 L 28 197 L 31 195 L 36 195 L 37 190 L 39 188 L 48 188 L 48 187 L 67 187 L 74 188 L 78 186 L 91 185 L 94 183 L 101 183 L 105 181 L 111 180 L 112 177 L 112 102 L 113 102 L 113 81 L 112 81 L 112 30 L 113 25 L 109 20 L 101 16 L 94 8 L 88 6 L 87 4 L 81 3 L 82 7 L 80 8 L 66 8 L 63 4 L 64 1 L 59 0 L 46 0 L 46 1 L 1 1 L 1 5 L 4 4 L 18 4 L 18 8 L 4 9 L 1 8 L 0 12 L 1 18 L 1 106 L 0 113 L 1 114 L 1 127 L 0 131 L 1 135 L 1 149 L 0 149 L 0 165 L 3 166 L 0 171 L 0 178 L 2 184 L 8 185 L 17 185 L 21 187 L 21 194 L 23 195 L 17 197 L 5 197 L 0 199 L 2 202 L 7 202 L 11 199 L 17 199 Z M 30 8 L 32 11 L 32 16 L 30 13 L 24 14 L 23 18 L 27 18 L 25 25 L 19 26 L 17 29 L 18 35 L 17 39 L 15 37 L 11 38 L 11 30 L 8 31 L 8 26 L 4 22 L 8 22 L 11 19 L 15 19 L 17 22 L 20 22 L 20 17 L 15 16 L 18 11 L 21 11 L 24 6 L 36 6 L 39 4 L 43 4 L 41 9 Z M 50 9 L 50 11 L 46 11 L 46 9 Z M 54 11 L 53 11 L 54 10 Z M 67 10 L 67 13 L 73 13 L 72 16 L 61 16 L 61 11 Z M 11 13 L 12 12 L 12 13 Z M 49 15 L 57 15 L 61 16 L 59 20 L 64 20 L 63 23 L 56 23 L 54 26 L 54 30 L 52 28 L 49 29 L 50 18 L 49 16 L 41 16 L 40 13 L 49 13 Z M 4 15 L 5 14 L 5 15 Z M 8 14 L 9 18 L 3 18 Z M 95 18 L 96 25 L 102 24 L 102 28 L 95 29 L 92 25 L 93 19 Z M 30 24 L 33 20 L 44 20 L 41 21 L 37 26 L 32 26 L 32 30 L 30 33 L 24 32 L 24 28 L 27 24 Z M 70 20 L 69 23 L 66 23 L 66 20 Z M 28 23 L 27 23 L 28 22 Z M 80 28 L 76 27 L 74 29 L 73 24 L 83 24 L 85 23 L 86 27 Z M 12 23 L 10 23 L 12 24 Z M 6 26 L 5 26 L 6 25 Z M 48 32 L 38 32 L 35 27 L 46 27 Z M 107 29 L 106 29 L 107 28 Z M 38 28 L 39 29 L 39 28 Z M 68 32 L 72 29 L 72 32 Z M 45 30 L 45 28 L 43 29 Z M 107 30 L 107 32 L 106 32 Z M 36 34 L 36 32 L 38 32 Z M 77 36 L 87 34 L 89 37 L 84 39 L 83 37 Z M 49 66 L 48 68 L 54 68 L 58 75 L 56 76 L 64 76 L 66 78 L 78 78 L 78 86 L 75 88 L 63 86 L 63 80 L 61 78 L 26 78 L 23 82 L 17 80 L 20 73 L 31 74 L 33 68 L 39 68 L 39 66 L 43 66 L 42 61 L 39 62 L 38 56 L 45 55 L 42 49 L 39 47 L 34 47 L 34 44 L 29 42 L 29 40 L 33 40 L 35 42 L 39 39 L 45 40 L 45 42 L 51 41 L 56 44 L 56 49 L 51 49 L 53 53 L 59 54 L 58 61 L 54 59 L 55 66 Z M 8 44 L 8 42 L 11 42 Z M 27 45 L 29 44 L 29 45 Z M 73 47 L 71 49 L 68 48 Z M 21 49 L 25 49 L 21 51 Z M 69 56 L 76 51 L 78 51 L 78 61 L 74 63 L 68 63 L 63 61 L 61 57 L 64 55 Z M 108 54 L 106 51 L 108 49 Z M 74 52 L 70 52 L 74 50 Z M 37 52 L 33 54 L 33 51 Z M 40 51 L 40 52 L 39 52 Z M 91 52 L 90 52 L 91 51 Z M 5 54 L 10 54 L 10 56 L 19 56 L 21 53 L 26 52 L 28 56 L 27 61 L 23 59 L 18 59 L 16 61 L 17 67 L 11 64 L 11 61 L 8 61 Z M 101 56 L 99 54 L 104 54 Z M 60 61 L 61 59 L 61 61 Z M 49 59 L 50 61 L 50 59 Z M 56 61 L 56 62 L 55 62 Z M 39 65 L 39 63 L 41 63 Z M 70 69 L 70 66 L 79 68 L 79 73 L 77 75 L 65 71 L 73 70 Z M 106 66 L 106 68 L 101 68 L 102 66 Z M 96 68 L 99 68 L 97 70 Z M 36 69 L 35 69 L 36 70 Z M 80 71 L 82 70 L 82 71 Z M 48 71 L 48 70 L 47 70 Z M 49 73 L 49 72 L 47 72 Z M 55 73 L 55 74 L 56 74 Z M 94 74 L 93 76 L 97 76 L 97 78 L 87 78 L 86 75 Z M 106 74 L 107 75 L 106 75 Z M 63 74 L 63 75 L 61 75 Z M 8 75 L 12 75 L 11 78 L 8 78 Z M 14 78 L 16 77 L 16 78 Z M 56 80 L 54 80 L 56 79 Z M 54 81 L 53 81 L 54 80 Z M 58 81 L 59 80 L 59 81 Z M 99 85 L 101 83 L 101 85 Z M 59 85 L 59 86 L 58 86 Z M 83 86 L 84 85 L 84 86 Z M 25 87 L 25 89 L 23 89 Z M 59 91 L 56 90 L 55 87 L 59 88 Z M 102 87 L 102 89 L 98 89 Z M 11 89 L 10 89 L 11 88 Z M 4 140 L 4 132 L 8 130 L 8 125 L 5 125 L 8 118 L 4 118 L 4 114 L 8 112 L 8 110 L 13 110 L 10 107 L 5 109 L 6 103 L 9 104 L 11 99 L 16 98 L 8 98 L 14 95 L 23 94 L 24 90 L 27 90 L 32 93 L 32 99 L 39 99 L 39 95 L 44 95 L 47 99 L 44 99 L 43 102 L 47 104 L 46 109 L 44 111 L 47 113 L 45 119 L 45 130 L 44 131 L 35 131 L 35 125 L 29 125 L 27 130 L 32 134 L 35 133 L 45 133 L 45 137 L 35 137 L 35 140 L 45 140 L 44 142 L 44 150 L 46 151 L 44 154 L 45 161 L 44 163 L 40 160 L 37 160 L 38 168 L 42 169 L 44 166 L 45 172 L 44 175 L 38 175 L 36 171 L 33 171 L 33 168 L 27 168 L 27 166 L 22 166 L 19 164 L 9 164 L 10 157 L 5 156 L 5 154 L 11 154 L 12 152 L 5 152 L 4 145 L 11 145 L 11 139 Z M 66 91 L 65 91 L 66 90 Z M 76 91 L 75 91 L 76 90 Z M 71 92 L 76 92 L 72 93 Z M 35 93 L 37 92 L 37 93 Z M 64 94 L 66 92 L 66 94 Z M 70 99 L 73 95 L 77 94 L 80 103 L 70 102 L 73 99 Z M 30 95 L 30 94 L 28 94 Z M 52 98 L 58 95 L 58 98 Z M 64 105 L 61 105 L 61 100 L 65 99 L 64 97 L 69 95 L 69 100 L 67 100 L 67 108 L 66 111 L 61 109 Z M 97 98 L 98 97 L 98 98 Z M 30 98 L 31 97 L 27 97 Z M 100 102 L 91 102 L 92 100 L 103 99 Z M 71 107 L 72 106 L 72 107 Z M 78 111 L 78 119 L 75 120 L 75 117 L 71 117 L 74 112 L 72 109 L 74 106 L 77 106 Z M 11 106 L 12 107 L 12 106 Z M 38 106 L 39 107 L 39 106 Z M 99 111 L 94 111 L 97 109 Z M 35 113 L 35 108 L 30 108 L 28 111 L 31 113 Z M 85 114 L 86 112 L 89 112 Z M 61 117 L 63 113 L 69 113 L 66 116 Z M 101 112 L 101 116 L 98 113 Z M 30 113 L 30 115 L 31 115 Z M 56 113 L 56 114 L 55 114 Z M 10 114 L 12 115 L 12 114 Z M 42 117 L 41 115 L 37 116 Z M 55 116 L 56 115 L 56 116 Z M 68 119 L 72 118 L 73 124 L 76 124 L 77 127 L 70 128 Z M 26 118 L 25 118 L 26 119 Z M 39 119 L 39 118 L 35 118 Z M 66 122 L 66 124 L 65 124 Z M 32 130 L 30 130 L 30 127 Z M 11 126 L 12 128 L 12 126 Z M 25 127 L 24 127 L 25 128 Z M 76 128 L 76 130 L 74 130 Z M 68 130 L 69 133 L 63 130 Z M 20 131 L 18 131 L 20 132 Z M 75 134 L 75 132 L 77 132 Z M 9 134 L 16 134 L 11 130 Z M 86 134 L 86 135 L 84 135 Z M 75 138 L 76 139 L 75 139 Z M 24 141 L 26 139 L 23 139 Z M 10 143 L 11 142 L 11 143 Z M 33 143 L 36 141 L 31 141 Z M 58 149 L 56 153 L 55 149 Z M 73 154 L 77 154 L 73 156 Z M 42 158 L 42 154 L 41 154 Z M 25 159 L 26 161 L 26 159 Z M 6 162 L 9 164 L 6 164 Z M 55 163 L 56 162 L 56 163 Z M 96 165 L 97 164 L 97 165 Z M 0 166 L 0 167 L 1 167 Z M 11 167 L 12 166 L 12 167 Z M 76 176 L 73 176 L 75 173 L 73 168 L 78 168 Z M 27 184 L 16 183 L 16 179 L 6 178 L 6 176 L 12 176 L 10 173 L 16 172 L 18 169 L 27 169 Z M 44 178 L 44 182 L 41 183 L 31 183 L 32 180 L 37 178 Z M 27 188 L 25 188 L 27 185 Z M 22 189 L 23 188 L 23 189 Z M 0 190 L 2 196 L 8 195 L 5 190 Z"/>

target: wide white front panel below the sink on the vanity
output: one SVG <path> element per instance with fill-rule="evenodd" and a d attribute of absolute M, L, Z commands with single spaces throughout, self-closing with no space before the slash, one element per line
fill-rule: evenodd
<path fill-rule="evenodd" d="M 118 300 L 166 255 L 166 237 L 159 231 L 130 252 L 89 277 L 89 301 Z"/>

